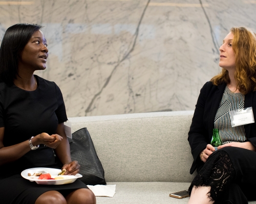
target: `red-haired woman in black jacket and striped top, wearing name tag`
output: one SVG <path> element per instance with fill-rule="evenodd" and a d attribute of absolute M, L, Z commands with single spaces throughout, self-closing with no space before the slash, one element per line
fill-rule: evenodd
<path fill-rule="evenodd" d="M 189 187 L 189 204 L 256 200 L 255 33 L 231 28 L 220 46 L 219 65 L 222 72 L 201 89 L 188 133 L 194 158 L 190 173 L 198 172 Z M 233 110 L 250 107 L 252 111 L 244 115 L 248 121 L 239 123 L 237 118 L 237 126 L 231 125 Z M 244 116 L 239 115 L 241 121 Z M 214 128 L 223 143 L 216 151 L 210 145 Z"/>

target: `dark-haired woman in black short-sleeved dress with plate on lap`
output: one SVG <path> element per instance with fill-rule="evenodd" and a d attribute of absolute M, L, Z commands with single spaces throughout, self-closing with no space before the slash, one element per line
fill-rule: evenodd
<path fill-rule="evenodd" d="M 0 48 L 0 203 L 96 203 L 80 180 L 38 185 L 20 175 L 33 167 L 65 168 L 70 175 L 80 168 L 71 160 L 60 89 L 33 74 L 46 69 L 48 58 L 40 28 L 15 24 L 7 29 Z"/>

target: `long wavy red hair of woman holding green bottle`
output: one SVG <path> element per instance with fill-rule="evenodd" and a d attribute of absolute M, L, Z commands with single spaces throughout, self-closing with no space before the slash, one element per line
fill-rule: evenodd
<path fill-rule="evenodd" d="M 236 58 L 234 79 L 237 89 L 242 94 L 256 91 L 256 34 L 245 27 L 232 27 L 230 32 L 234 35 L 232 49 Z M 224 82 L 229 84 L 228 71 L 222 68 L 221 73 L 210 81 L 216 86 Z"/>

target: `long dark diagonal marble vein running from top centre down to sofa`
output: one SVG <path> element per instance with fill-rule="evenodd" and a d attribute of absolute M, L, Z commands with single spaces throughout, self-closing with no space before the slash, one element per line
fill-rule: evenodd
<path fill-rule="evenodd" d="M 92 98 L 92 100 L 91 100 L 89 106 L 88 106 L 87 109 L 86 109 L 86 115 L 85 115 L 85 116 L 87 116 L 87 113 L 91 111 L 91 107 L 92 107 L 92 105 L 93 105 L 93 103 L 94 103 L 94 100 L 101 94 L 101 92 L 103 91 L 103 89 L 109 84 L 109 82 L 110 82 L 110 80 L 111 80 L 111 77 L 112 77 L 114 71 L 115 71 L 115 70 L 117 69 L 117 67 L 133 52 L 134 47 L 135 47 L 135 44 L 136 44 L 136 41 L 137 41 L 137 37 L 138 37 L 138 34 L 139 34 L 140 24 L 141 24 L 141 21 L 142 21 L 142 19 L 143 19 L 143 17 L 144 17 L 144 14 L 145 14 L 145 12 L 146 12 L 146 9 L 147 9 L 148 4 L 150 3 L 150 1 L 151 1 L 151 0 L 148 0 L 148 1 L 147 1 L 147 4 L 146 4 L 146 6 L 145 6 L 145 8 L 144 8 L 144 10 L 143 10 L 143 12 L 142 12 L 141 17 L 140 17 L 140 20 L 139 20 L 139 23 L 138 23 L 136 32 L 135 32 L 135 34 L 134 34 L 134 35 L 135 35 L 135 38 L 134 38 L 134 42 L 133 42 L 132 48 L 131 48 L 131 49 L 129 50 L 129 52 L 128 52 L 126 55 L 124 55 L 124 57 L 117 63 L 117 65 L 116 65 L 116 66 L 114 67 L 114 69 L 112 70 L 110 76 L 106 79 L 106 82 L 104 83 L 103 87 L 100 89 L 100 91 L 99 91 L 98 93 L 96 93 L 96 94 L 94 95 L 94 97 Z"/>

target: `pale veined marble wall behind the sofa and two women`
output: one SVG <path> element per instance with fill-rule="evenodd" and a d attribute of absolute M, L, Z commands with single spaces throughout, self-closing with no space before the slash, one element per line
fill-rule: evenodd
<path fill-rule="evenodd" d="M 68 117 L 194 110 L 220 71 L 232 26 L 256 31 L 256 1 L 0 1 L 0 39 L 15 23 L 44 25 L 41 77 L 55 81 Z M 0 40 L 0 42 L 1 42 Z"/>

